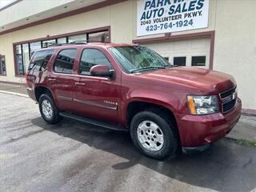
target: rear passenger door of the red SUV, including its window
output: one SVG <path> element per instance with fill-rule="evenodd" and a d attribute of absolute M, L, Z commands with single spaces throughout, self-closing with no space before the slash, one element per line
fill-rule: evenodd
<path fill-rule="evenodd" d="M 60 110 L 73 111 L 74 64 L 78 50 L 66 48 L 60 50 L 55 58 L 48 85 L 54 92 L 55 102 Z"/>

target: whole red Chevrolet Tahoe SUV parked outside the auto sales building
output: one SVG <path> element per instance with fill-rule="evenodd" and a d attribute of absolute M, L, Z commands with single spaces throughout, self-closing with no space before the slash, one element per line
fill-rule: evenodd
<path fill-rule="evenodd" d="M 42 118 L 130 130 L 151 158 L 205 150 L 238 122 L 242 102 L 229 74 L 173 66 L 146 46 L 74 43 L 38 50 L 26 84 Z"/>

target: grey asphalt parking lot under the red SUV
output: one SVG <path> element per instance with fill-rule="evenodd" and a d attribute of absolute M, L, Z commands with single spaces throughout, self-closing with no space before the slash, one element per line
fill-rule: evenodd
<path fill-rule="evenodd" d="M 47 125 L 30 98 L 0 101 L 0 191 L 256 191 L 256 147 L 224 138 L 158 162 L 127 133 L 69 119 Z"/>

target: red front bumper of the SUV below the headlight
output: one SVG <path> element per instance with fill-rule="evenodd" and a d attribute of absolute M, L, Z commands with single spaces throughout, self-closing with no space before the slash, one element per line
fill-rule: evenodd
<path fill-rule="evenodd" d="M 238 122 L 242 110 L 242 102 L 238 102 L 227 114 L 174 114 L 181 138 L 182 148 L 204 148 L 211 142 L 224 137 Z"/>

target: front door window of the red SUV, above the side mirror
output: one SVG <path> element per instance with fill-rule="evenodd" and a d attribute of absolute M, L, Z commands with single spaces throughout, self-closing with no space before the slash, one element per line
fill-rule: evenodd
<path fill-rule="evenodd" d="M 100 50 L 86 49 L 82 51 L 82 57 L 80 60 L 79 74 L 90 74 L 90 68 L 96 65 L 109 66 L 113 69 L 109 60 Z"/>

